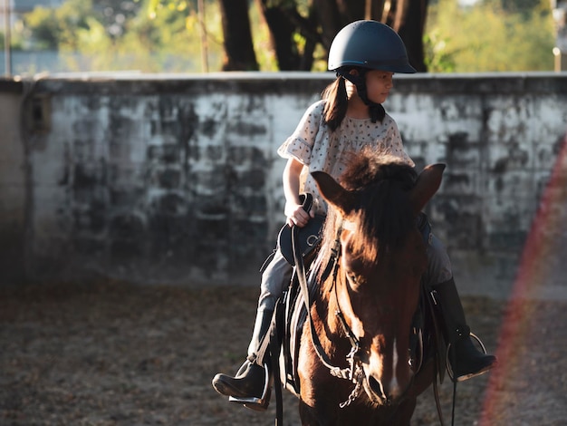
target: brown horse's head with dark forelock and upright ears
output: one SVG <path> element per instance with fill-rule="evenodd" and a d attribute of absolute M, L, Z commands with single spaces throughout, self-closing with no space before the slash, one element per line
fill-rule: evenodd
<path fill-rule="evenodd" d="M 330 206 L 322 252 L 331 240 L 341 241 L 339 273 L 323 284 L 334 286 L 330 309 L 342 312 L 360 341 L 364 388 L 376 404 L 398 401 L 415 373 L 410 328 L 427 268 L 417 217 L 439 188 L 443 169 L 436 164 L 418 175 L 395 158 L 366 152 L 351 161 L 341 183 L 312 173 Z"/>

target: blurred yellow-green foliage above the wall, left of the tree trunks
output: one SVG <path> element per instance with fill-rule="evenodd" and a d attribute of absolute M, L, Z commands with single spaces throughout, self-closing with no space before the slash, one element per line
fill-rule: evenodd
<path fill-rule="evenodd" d="M 196 72 L 202 68 L 199 28 L 207 28 L 207 61 L 220 69 L 222 38 L 216 2 L 205 21 L 186 2 L 156 5 L 153 0 L 67 0 L 56 9 L 37 7 L 24 16 L 20 36 L 28 48 L 59 52 L 70 71 L 137 70 L 146 73 Z"/>

